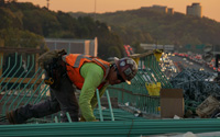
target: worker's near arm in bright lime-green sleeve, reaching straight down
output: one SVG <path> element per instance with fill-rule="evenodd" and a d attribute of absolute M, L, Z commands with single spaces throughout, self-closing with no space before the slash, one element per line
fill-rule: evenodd
<path fill-rule="evenodd" d="M 96 117 L 91 106 L 91 99 L 95 96 L 95 91 L 103 79 L 103 70 L 96 64 L 87 62 L 81 67 L 80 73 L 85 78 L 85 82 L 79 96 L 79 107 L 84 118 L 87 122 L 92 122 Z"/>

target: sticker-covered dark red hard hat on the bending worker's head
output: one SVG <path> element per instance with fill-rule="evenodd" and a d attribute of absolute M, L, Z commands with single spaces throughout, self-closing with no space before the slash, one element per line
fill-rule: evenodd
<path fill-rule="evenodd" d="M 119 70 L 119 75 L 124 79 L 124 81 L 131 84 L 131 80 L 135 77 L 138 72 L 138 65 L 136 62 L 129 57 L 124 58 L 114 58 L 114 62 Z"/>

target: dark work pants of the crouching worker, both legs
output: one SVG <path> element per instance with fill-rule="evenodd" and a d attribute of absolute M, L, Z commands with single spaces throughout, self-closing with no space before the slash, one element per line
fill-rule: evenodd
<path fill-rule="evenodd" d="M 75 95 L 76 88 L 73 87 L 67 75 L 61 78 L 59 89 L 50 88 L 50 100 L 34 105 L 28 104 L 15 110 L 15 121 L 24 123 L 32 117 L 40 118 L 62 111 L 62 122 L 68 122 L 66 112 L 69 113 L 73 122 L 78 122 L 79 106 Z"/>

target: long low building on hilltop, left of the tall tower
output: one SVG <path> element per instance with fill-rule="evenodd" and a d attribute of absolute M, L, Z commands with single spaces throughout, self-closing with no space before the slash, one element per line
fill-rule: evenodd
<path fill-rule="evenodd" d="M 148 9 L 148 10 L 157 11 L 157 12 L 162 12 L 162 13 L 174 14 L 173 8 L 167 8 L 167 7 L 163 7 L 163 5 L 154 4 L 153 7 L 142 7 L 141 9 Z"/>

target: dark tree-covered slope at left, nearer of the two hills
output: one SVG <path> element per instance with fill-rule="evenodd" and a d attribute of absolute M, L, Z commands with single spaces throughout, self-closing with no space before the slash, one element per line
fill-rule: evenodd
<path fill-rule="evenodd" d="M 0 43 L 4 47 L 36 47 L 44 38 L 87 39 L 98 37 L 98 56 L 123 57 L 123 44 L 108 25 L 89 16 L 72 18 L 68 13 L 50 11 L 31 2 L 0 0 Z"/>

